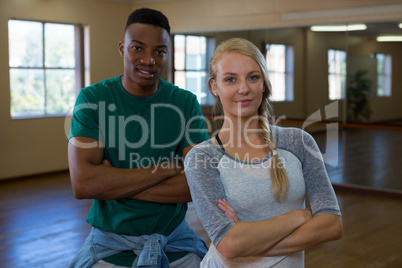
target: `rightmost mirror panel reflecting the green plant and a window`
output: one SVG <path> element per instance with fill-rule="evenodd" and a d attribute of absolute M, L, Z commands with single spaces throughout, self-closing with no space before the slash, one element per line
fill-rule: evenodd
<path fill-rule="evenodd" d="M 400 23 L 365 23 L 365 30 L 345 33 L 347 128 L 341 136 L 339 183 L 402 193 L 397 149 L 402 142 Z"/>

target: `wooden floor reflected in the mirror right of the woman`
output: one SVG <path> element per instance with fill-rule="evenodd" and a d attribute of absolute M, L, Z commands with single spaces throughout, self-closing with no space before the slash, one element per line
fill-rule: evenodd
<path fill-rule="evenodd" d="M 343 128 L 337 139 L 313 133 L 334 184 L 402 194 L 402 127 Z"/>

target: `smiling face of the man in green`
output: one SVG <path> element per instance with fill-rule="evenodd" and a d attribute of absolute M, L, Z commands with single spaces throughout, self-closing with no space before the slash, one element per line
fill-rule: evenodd
<path fill-rule="evenodd" d="M 158 26 L 131 24 L 119 43 L 124 59 L 123 86 L 134 95 L 156 92 L 158 79 L 167 61 L 168 32 Z"/>

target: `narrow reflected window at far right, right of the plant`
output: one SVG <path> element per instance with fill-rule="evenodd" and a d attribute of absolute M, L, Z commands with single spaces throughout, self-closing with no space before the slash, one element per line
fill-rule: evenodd
<path fill-rule="evenodd" d="M 380 97 L 391 96 L 392 58 L 391 55 L 374 54 L 377 59 L 377 92 Z"/>

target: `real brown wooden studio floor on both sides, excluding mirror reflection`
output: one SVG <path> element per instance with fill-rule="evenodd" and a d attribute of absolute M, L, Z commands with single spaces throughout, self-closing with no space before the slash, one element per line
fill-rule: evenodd
<path fill-rule="evenodd" d="M 306 267 L 402 267 L 402 198 L 337 191 L 344 238 L 306 252 Z M 68 173 L 0 183 L 0 267 L 67 267 L 88 231 L 90 200 Z M 187 221 L 206 239 L 190 203 Z"/>

